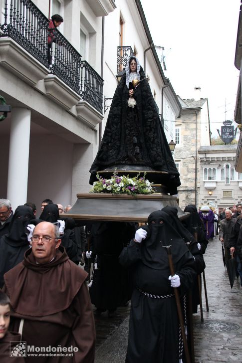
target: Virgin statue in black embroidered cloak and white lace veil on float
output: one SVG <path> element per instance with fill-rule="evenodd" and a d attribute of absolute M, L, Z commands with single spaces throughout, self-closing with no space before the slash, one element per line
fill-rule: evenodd
<path fill-rule="evenodd" d="M 149 83 L 144 79 L 145 74 L 137 58 L 137 72 L 129 71 L 133 58 L 135 57 L 130 57 L 126 73 L 113 96 L 102 143 L 90 169 L 90 184 L 96 180 L 96 173 L 106 168 L 113 171 L 115 168 L 121 169 L 123 172 L 135 168 L 140 171 L 162 172 L 153 173 L 154 179 L 150 181 L 166 185 L 168 192 L 175 194 L 180 185 L 179 173 Z M 140 78 L 141 81 L 134 90 L 134 108 L 128 106 L 133 78 Z"/>

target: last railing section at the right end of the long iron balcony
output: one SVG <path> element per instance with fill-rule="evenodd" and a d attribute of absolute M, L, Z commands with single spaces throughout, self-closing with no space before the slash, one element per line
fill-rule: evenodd
<path fill-rule="evenodd" d="M 103 79 L 85 60 L 81 61 L 80 96 L 97 111 L 103 110 Z"/>

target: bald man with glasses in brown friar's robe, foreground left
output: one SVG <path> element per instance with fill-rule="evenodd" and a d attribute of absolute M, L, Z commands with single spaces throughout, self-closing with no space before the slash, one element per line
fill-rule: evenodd
<path fill-rule="evenodd" d="M 11 330 L 18 332 L 23 324 L 26 362 L 93 363 L 95 325 L 87 274 L 70 261 L 58 237 L 52 223 L 39 223 L 32 249 L 4 275 Z"/>

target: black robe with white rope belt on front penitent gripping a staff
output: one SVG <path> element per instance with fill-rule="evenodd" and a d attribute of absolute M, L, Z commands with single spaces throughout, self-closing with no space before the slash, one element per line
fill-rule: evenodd
<path fill-rule="evenodd" d="M 154 212 L 157 213 L 157 212 Z M 165 219 L 164 212 L 159 211 Z M 153 214 L 153 213 L 151 213 Z M 179 363 L 182 346 L 179 344 L 179 321 L 175 297 L 152 298 L 143 292 L 167 296 L 174 291 L 168 280 L 170 273 L 168 257 L 162 245 L 170 244 L 176 274 L 179 275 L 181 295 L 193 284 L 194 258 L 173 227 L 166 221 L 162 232 L 151 235 L 142 243 L 131 240 L 120 254 L 120 263 L 132 269 L 133 281 L 137 286 L 131 299 L 129 341 L 126 363 Z M 155 238 L 153 237 L 155 236 Z M 162 243 L 161 243 L 162 241 Z"/>

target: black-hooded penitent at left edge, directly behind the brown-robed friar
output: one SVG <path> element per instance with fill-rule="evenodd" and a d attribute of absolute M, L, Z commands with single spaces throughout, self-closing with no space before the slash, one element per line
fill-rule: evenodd
<path fill-rule="evenodd" d="M 32 209 L 19 205 L 13 214 L 9 233 L 0 239 L 0 287 L 3 285 L 4 273 L 21 262 L 24 252 L 29 248 L 26 226 L 32 219 Z"/>

